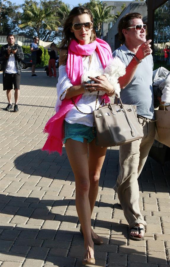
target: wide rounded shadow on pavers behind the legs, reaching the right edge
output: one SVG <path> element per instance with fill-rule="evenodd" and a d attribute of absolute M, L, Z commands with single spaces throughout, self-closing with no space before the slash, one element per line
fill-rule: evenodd
<path fill-rule="evenodd" d="M 74 181 L 65 147 L 63 154 L 48 154 L 46 151 L 33 150 L 20 155 L 15 159 L 18 170 L 31 176 L 47 177 L 49 179 L 60 179 Z M 145 166 L 139 176 L 139 189 L 142 192 L 169 192 L 170 168 L 168 163 L 161 166 L 152 158 L 147 159 Z M 118 176 L 118 150 L 108 149 L 100 175 L 100 186 L 113 188 Z M 160 179 L 161 177 L 161 179 Z"/>

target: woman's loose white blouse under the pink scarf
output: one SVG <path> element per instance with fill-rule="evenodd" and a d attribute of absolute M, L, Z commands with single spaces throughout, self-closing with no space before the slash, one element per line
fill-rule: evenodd
<path fill-rule="evenodd" d="M 99 56 L 96 51 L 93 52 L 92 54 L 92 60 L 91 63 L 89 64 L 89 57 L 84 56 L 83 58 L 83 66 L 84 66 L 84 71 L 92 71 L 92 77 L 93 77 L 93 70 L 101 69 L 102 64 L 100 62 Z M 59 67 L 59 78 L 58 78 L 58 83 L 57 83 L 57 102 L 55 105 L 55 111 L 57 112 L 60 105 L 60 96 L 64 92 L 65 89 L 73 86 L 71 84 L 70 79 L 68 78 L 68 75 L 65 70 L 65 65 L 61 65 Z M 66 94 L 66 93 L 65 93 Z M 65 98 L 65 94 L 63 94 L 61 100 Z M 97 108 L 100 106 L 100 103 L 102 102 L 101 96 L 104 95 L 105 92 L 99 91 L 99 98 L 97 101 Z M 96 97 L 97 97 L 97 91 L 93 91 L 90 93 L 89 91 L 84 92 L 80 100 L 76 103 L 78 109 L 82 112 L 85 113 L 91 113 L 93 110 L 95 110 L 95 104 L 96 104 Z M 76 107 L 73 107 L 70 109 L 69 112 L 66 113 L 65 120 L 68 123 L 80 123 L 84 124 L 87 126 L 93 126 L 93 114 L 83 114 L 79 112 Z"/>

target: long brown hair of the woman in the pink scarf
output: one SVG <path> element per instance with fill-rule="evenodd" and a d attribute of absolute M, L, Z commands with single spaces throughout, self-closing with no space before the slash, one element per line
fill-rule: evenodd
<path fill-rule="evenodd" d="M 93 16 L 92 16 L 90 9 L 88 9 L 87 7 L 84 7 L 84 6 L 74 7 L 70 11 L 68 17 L 66 18 L 66 20 L 63 24 L 62 41 L 61 41 L 60 48 L 67 48 L 70 44 L 71 39 L 76 40 L 76 37 L 75 37 L 74 33 L 70 31 L 70 28 L 72 26 L 73 18 L 78 16 L 78 15 L 82 15 L 82 14 L 88 14 L 90 19 L 91 19 L 91 22 L 93 23 Z M 95 30 L 92 29 L 92 34 L 90 37 L 90 43 L 94 42 L 95 39 L 96 39 L 96 33 L 95 33 Z"/>

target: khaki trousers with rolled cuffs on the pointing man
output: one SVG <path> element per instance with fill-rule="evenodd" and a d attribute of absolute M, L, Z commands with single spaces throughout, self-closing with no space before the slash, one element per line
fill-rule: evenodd
<path fill-rule="evenodd" d="M 130 229 L 137 223 L 146 225 L 139 209 L 139 185 L 137 178 L 143 169 L 155 138 L 154 121 L 138 117 L 138 122 L 144 136 L 142 139 L 120 146 L 120 171 L 116 185 L 113 187 L 118 193 L 118 198 Z"/>

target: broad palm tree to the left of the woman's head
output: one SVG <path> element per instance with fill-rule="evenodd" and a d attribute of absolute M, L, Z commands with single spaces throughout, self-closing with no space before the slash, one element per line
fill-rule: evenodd
<path fill-rule="evenodd" d="M 55 16 L 55 10 L 43 8 L 41 5 L 31 3 L 25 4 L 23 15 L 21 16 L 20 28 L 32 27 L 40 39 L 40 29 L 44 28 L 49 31 L 58 31 L 61 24 L 59 18 Z"/>

